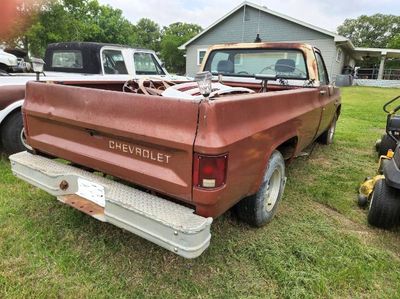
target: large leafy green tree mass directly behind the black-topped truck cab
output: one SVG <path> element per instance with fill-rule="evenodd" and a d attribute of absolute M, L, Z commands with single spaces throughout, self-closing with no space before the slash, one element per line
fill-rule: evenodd
<path fill-rule="evenodd" d="M 47 45 L 55 42 L 136 44 L 135 26 L 122 16 L 122 11 L 100 5 L 97 0 L 23 1 L 41 6 L 34 22 L 19 30 L 14 41 L 8 44 L 23 44 L 32 55 L 43 56 Z M 29 13 L 31 9 L 27 7 L 20 12 Z"/>

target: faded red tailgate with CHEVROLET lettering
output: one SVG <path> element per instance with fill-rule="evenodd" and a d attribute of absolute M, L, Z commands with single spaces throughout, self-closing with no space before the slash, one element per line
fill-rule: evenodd
<path fill-rule="evenodd" d="M 23 111 L 34 149 L 190 201 L 198 104 L 30 82 Z"/>

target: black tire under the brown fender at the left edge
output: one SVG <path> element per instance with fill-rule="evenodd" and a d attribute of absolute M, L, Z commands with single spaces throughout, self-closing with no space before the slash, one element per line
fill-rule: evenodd
<path fill-rule="evenodd" d="M 7 154 L 12 155 L 26 150 L 22 141 L 23 130 L 24 123 L 20 111 L 13 112 L 6 118 L 1 129 L 1 143 Z"/>

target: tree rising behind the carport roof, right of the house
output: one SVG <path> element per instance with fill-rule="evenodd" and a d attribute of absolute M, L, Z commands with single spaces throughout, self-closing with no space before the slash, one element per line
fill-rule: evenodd
<path fill-rule="evenodd" d="M 375 14 L 346 19 L 338 27 L 338 33 L 357 47 L 386 48 L 400 34 L 400 16 Z"/>

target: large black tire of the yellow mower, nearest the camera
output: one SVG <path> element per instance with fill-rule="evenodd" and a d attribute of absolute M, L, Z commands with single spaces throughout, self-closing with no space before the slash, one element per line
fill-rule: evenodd
<path fill-rule="evenodd" d="M 368 211 L 368 223 L 391 229 L 399 223 L 400 190 L 388 186 L 384 179 L 376 182 Z"/>

